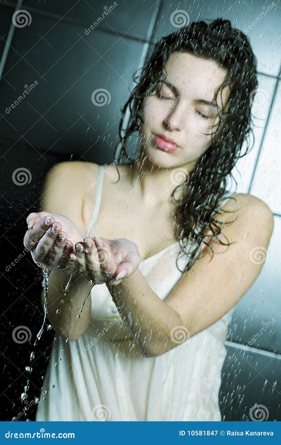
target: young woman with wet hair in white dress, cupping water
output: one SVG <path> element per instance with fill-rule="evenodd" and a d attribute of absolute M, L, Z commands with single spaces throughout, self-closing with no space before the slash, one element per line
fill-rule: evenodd
<path fill-rule="evenodd" d="M 247 37 L 192 22 L 155 44 L 122 109 L 117 162 L 49 171 L 24 236 L 51 269 L 56 331 L 38 421 L 221 420 L 227 324 L 273 230 L 264 202 L 226 191 L 255 89 Z"/>

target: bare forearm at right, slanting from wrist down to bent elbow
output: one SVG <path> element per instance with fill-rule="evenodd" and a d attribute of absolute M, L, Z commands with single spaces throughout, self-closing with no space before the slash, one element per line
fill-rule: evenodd
<path fill-rule="evenodd" d="M 119 284 L 107 287 L 145 356 L 157 356 L 175 347 L 171 330 L 181 325 L 180 316 L 152 291 L 139 269 Z"/>

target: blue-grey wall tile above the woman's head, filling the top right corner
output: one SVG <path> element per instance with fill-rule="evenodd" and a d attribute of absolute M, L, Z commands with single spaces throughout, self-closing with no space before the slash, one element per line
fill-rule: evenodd
<path fill-rule="evenodd" d="M 281 8 L 278 2 L 265 4 L 263 0 L 252 2 L 233 2 L 232 0 L 169 1 L 163 2 L 154 39 L 175 32 L 179 25 L 189 21 L 215 20 L 222 17 L 230 20 L 233 27 L 246 33 L 253 52 L 257 56 L 258 71 L 277 75 L 281 63 L 280 26 Z M 182 12 L 176 12 L 181 10 Z M 171 18 L 172 16 L 172 18 Z M 180 19 L 181 17 L 181 19 Z M 179 21 L 176 21 L 179 19 Z M 173 23 L 173 24 L 172 24 Z M 210 23 L 208 21 L 208 23 Z"/>

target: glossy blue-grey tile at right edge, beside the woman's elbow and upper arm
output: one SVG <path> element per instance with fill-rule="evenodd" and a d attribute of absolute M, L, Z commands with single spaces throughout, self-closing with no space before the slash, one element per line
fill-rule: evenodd
<path fill-rule="evenodd" d="M 256 249 L 253 258 L 263 268 L 248 292 L 236 304 L 228 340 L 254 348 L 281 352 L 280 299 L 281 217 L 274 218 L 274 230 L 267 253 Z"/>

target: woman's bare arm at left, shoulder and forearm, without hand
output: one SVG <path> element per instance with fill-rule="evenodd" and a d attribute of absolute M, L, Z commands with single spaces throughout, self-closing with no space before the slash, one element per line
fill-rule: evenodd
<path fill-rule="evenodd" d="M 95 177 L 96 169 L 96 164 L 62 162 L 52 167 L 45 178 L 40 210 L 49 214 L 55 212 L 64 215 L 73 221 L 82 238 L 75 233 L 75 229 L 72 230 L 72 227 L 68 227 L 67 223 L 61 223 L 62 230 L 67 233 L 73 246 L 85 236 L 86 226 L 93 210 L 91 203 L 94 203 L 95 189 L 94 187 L 90 191 L 88 189 L 87 196 L 85 196 L 85 190 L 89 185 L 88 178 Z M 58 221 L 58 218 L 55 218 L 55 220 Z M 90 279 L 79 272 L 75 272 L 65 297 L 64 289 L 69 281 L 70 274 L 70 270 L 52 270 L 50 272 L 47 318 L 58 335 L 69 338 L 69 340 L 76 340 L 90 324 L 90 295 L 86 299 L 82 312 L 79 312 L 90 289 Z M 64 300 L 64 303 L 61 300 Z M 44 291 L 41 295 L 41 304 L 44 308 Z M 58 314 L 57 310 L 60 311 Z M 77 318 L 78 314 L 80 315 L 79 318 Z M 73 326 L 73 323 L 75 323 L 75 326 Z"/>

